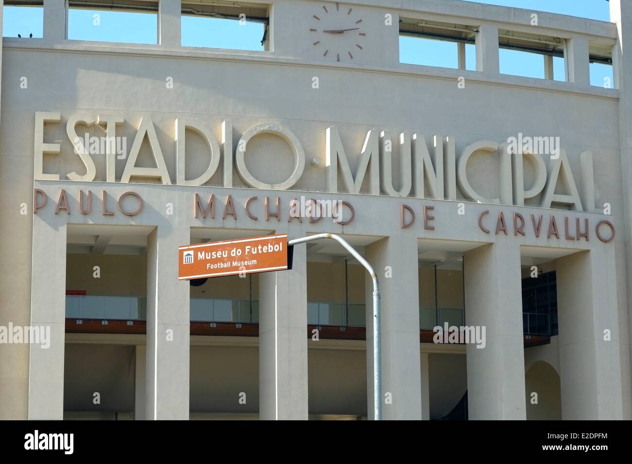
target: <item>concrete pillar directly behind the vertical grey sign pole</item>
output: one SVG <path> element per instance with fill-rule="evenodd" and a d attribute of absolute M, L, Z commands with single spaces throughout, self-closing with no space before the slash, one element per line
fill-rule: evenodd
<path fill-rule="evenodd" d="M 392 237 L 365 247 L 380 284 L 382 419 L 422 419 L 417 241 Z M 373 283 L 367 273 L 367 413 L 374 417 Z M 386 401 L 389 401 L 387 403 Z"/>

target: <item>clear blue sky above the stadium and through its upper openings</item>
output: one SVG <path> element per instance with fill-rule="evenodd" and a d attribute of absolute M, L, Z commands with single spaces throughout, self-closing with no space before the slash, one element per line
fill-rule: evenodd
<path fill-rule="evenodd" d="M 610 19 L 610 4 L 606 0 L 485 0 L 480 3 L 513 6 L 530 11 L 549 11 L 602 21 Z M 95 13 L 98 13 L 98 19 L 95 18 Z M 41 8 L 4 7 L 4 37 L 17 37 L 18 33 L 22 37 L 28 37 L 29 33 L 32 33 L 33 37 L 42 37 L 42 23 Z M 262 50 L 260 41 L 263 32 L 263 26 L 260 23 L 246 21 L 245 24 L 240 25 L 234 20 L 184 16 L 182 44 L 190 47 Z M 71 9 L 69 13 L 68 39 L 71 40 L 155 44 L 156 35 L 156 15 L 84 9 Z M 400 60 L 412 64 L 456 68 L 456 44 L 402 37 Z M 500 60 L 501 73 L 544 78 L 541 56 L 501 49 Z M 475 61 L 474 47 L 468 45 L 466 69 L 474 69 Z M 612 79 L 611 66 L 591 64 L 591 83 L 602 86 L 604 77 Z M 554 78 L 564 80 L 563 59 L 554 60 Z"/>

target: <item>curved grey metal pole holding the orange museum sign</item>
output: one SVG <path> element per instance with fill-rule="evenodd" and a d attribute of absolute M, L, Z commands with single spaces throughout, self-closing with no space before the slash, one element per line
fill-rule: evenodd
<path fill-rule="evenodd" d="M 343 237 L 336 234 L 315 234 L 288 241 L 288 246 L 319 239 L 334 239 L 363 265 L 373 281 L 373 411 L 374 419 L 382 420 L 382 331 L 380 328 L 380 285 L 372 266 Z"/>

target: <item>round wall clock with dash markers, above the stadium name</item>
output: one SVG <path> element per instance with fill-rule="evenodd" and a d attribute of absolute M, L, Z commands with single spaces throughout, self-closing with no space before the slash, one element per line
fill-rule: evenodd
<path fill-rule="evenodd" d="M 311 18 L 312 47 L 329 61 L 353 61 L 363 50 L 367 33 L 353 8 L 339 3 L 322 6 Z"/>

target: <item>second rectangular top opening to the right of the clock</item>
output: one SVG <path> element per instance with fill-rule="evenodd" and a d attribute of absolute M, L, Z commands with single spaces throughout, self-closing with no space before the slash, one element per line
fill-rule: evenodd
<path fill-rule="evenodd" d="M 501 74 L 566 81 L 564 47 L 560 37 L 499 29 Z"/>

